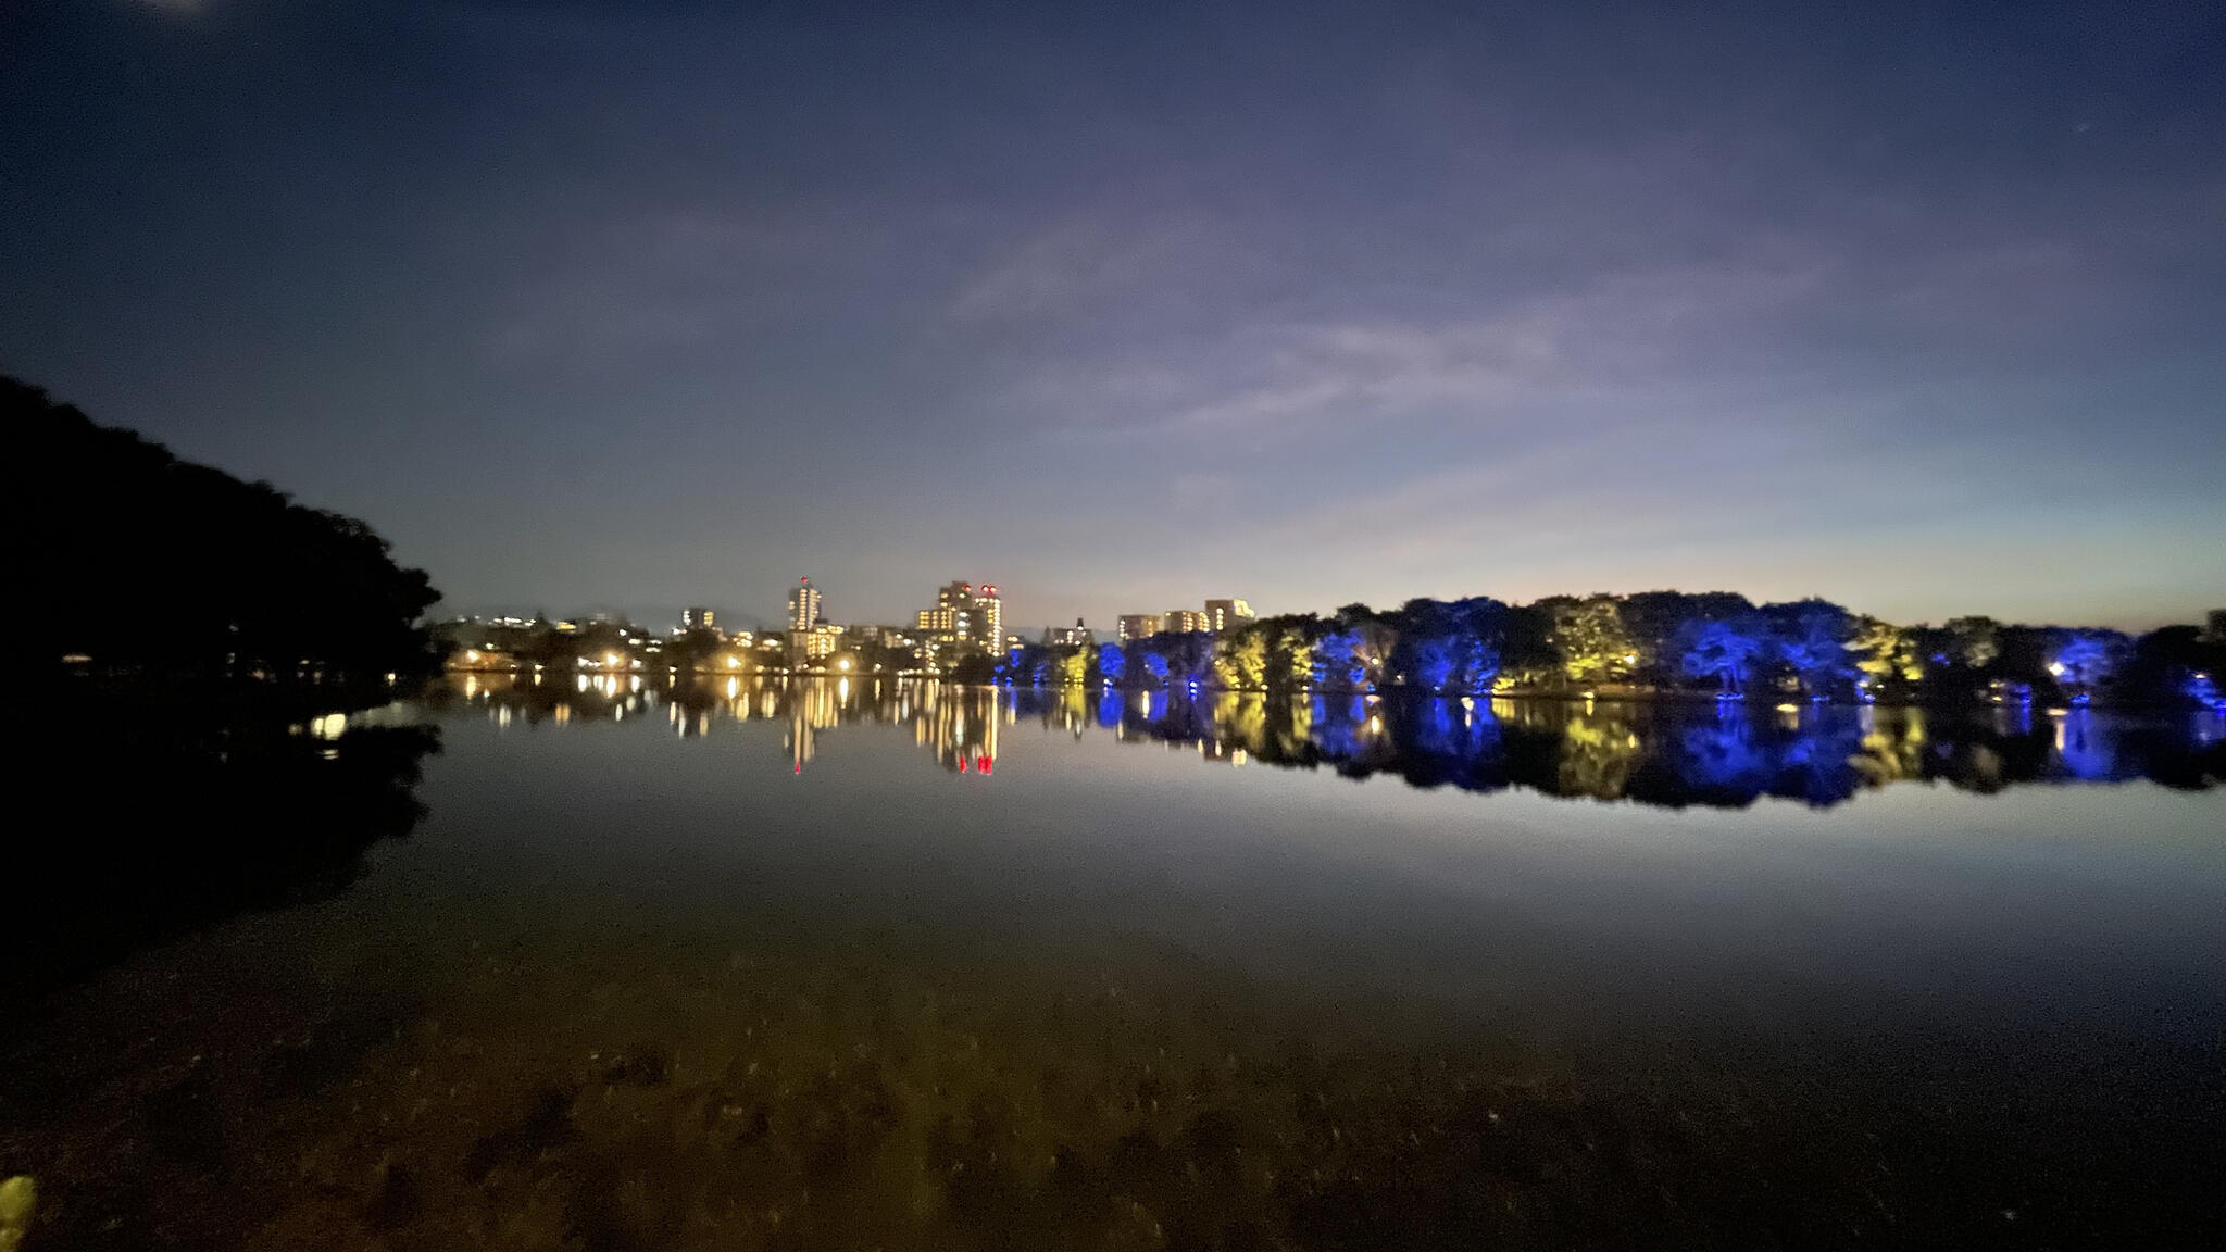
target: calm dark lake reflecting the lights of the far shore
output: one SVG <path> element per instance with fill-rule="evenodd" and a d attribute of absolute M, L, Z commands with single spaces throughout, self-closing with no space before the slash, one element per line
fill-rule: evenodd
<path fill-rule="evenodd" d="M 203 740 L 18 887 L 31 1252 L 2226 1239 L 2215 713 L 454 675 Z"/>

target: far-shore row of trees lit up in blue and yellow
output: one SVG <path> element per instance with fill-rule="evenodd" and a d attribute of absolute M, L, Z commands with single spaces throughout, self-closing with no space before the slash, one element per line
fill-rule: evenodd
<path fill-rule="evenodd" d="M 1409 599 L 1262 617 L 1095 648 L 1022 644 L 997 675 L 1026 686 L 1409 691 L 2006 704 L 2217 704 L 2226 639 L 2197 626 L 2133 637 L 1954 617 L 1897 626 L 1828 599 L 1647 590 Z"/>

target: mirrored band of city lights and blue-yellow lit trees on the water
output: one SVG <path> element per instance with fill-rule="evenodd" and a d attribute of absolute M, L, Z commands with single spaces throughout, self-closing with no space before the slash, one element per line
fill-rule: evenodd
<path fill-rule="evenodd" d="M 483 708 L 505 731 L 626 722 L 659 708 L 681 737 L 721 726 L 781 724 L 790 771 L 819 735 L 877 722 L 908 726 L 953 773 L 995 773 L 1020 722 L 1062 740 L 1109 733 L 1129 744 L 1193 751 L 1206 762 L 1396 773 L 1416 786 L 1638 804 L 1741 806 L 1759 798 L 1836 804 L 1894 782 L 1997 791 L 2032 782 L 2155 777 L 2210 786 L 2226 777 L 2222 717 L 2146 724 L 2072 708 L 1928 713 L 1883 706 L 1796 706 L 1552 700 L 1427 700 L 1260 693 L 1191 697 L 1169 691 L 1013 691 L 930 679 L 726 677 L 659 682 L 643 675 L 450 675 L 436 700 Z"/>

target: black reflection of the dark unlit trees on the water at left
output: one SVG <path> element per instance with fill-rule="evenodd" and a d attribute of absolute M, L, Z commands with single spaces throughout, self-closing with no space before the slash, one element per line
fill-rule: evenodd
<path fill-rule="evenodd" d="M 220 918 L 336 893 L 370 844 L 416 826 L 432 751 L 432 728 L 334 708 L 80 693 L 27 749 L 29 777 L 67 809 L 40 820 L 36 880 L 0 909 L 0 991 L 65 985 Z"/>

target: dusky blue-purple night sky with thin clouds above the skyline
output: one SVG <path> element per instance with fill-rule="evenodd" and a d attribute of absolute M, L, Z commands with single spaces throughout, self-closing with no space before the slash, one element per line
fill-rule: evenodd
<path fill-rule="evenodd" d="M 36 0 L 0 62 L 0 370 L 445 613 L 2226 604 L 2213 4 Z"/>

